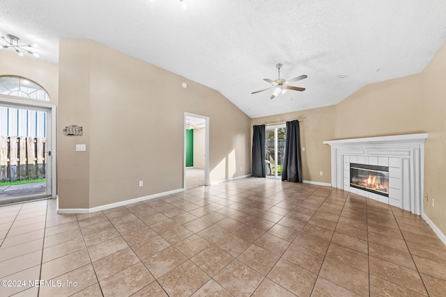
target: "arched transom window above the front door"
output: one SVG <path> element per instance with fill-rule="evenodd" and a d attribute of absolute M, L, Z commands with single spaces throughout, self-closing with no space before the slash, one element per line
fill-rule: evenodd
<path fill-rule="evenodd" d="M 49 101 L 49 95 L 42 86 L 23 77 L 0 77 L 0 95 L 2 94 Z"/>

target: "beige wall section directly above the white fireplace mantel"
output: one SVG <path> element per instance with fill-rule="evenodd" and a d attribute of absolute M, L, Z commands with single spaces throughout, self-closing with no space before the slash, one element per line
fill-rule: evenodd
<path fill-rule="evenodd" d="M 334 138 L 422 131 L 421 74 L 365 86 L 336 105 Z"/>

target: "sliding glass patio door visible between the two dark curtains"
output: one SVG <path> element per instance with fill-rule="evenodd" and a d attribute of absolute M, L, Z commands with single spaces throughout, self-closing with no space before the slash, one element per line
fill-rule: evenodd
<path fill-rule="evenodd" d="M 266 177 L 282 175 L 284 161 L 286 125 L 266 126 Z"/>

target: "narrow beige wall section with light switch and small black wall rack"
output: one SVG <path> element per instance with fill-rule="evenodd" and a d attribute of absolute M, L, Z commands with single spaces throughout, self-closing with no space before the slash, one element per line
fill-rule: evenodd
<path fill-rule="evenodd" d="M 89 208 L 90 201 L 90 50 L 71 43 L 61 42 L 59 48 L 57 182 L 61 209 Z M 64 136 L 63 128 L 69 125 L 81 126 L 82 136 Z M 76 144 L 85 144 L 86 152 L 75 152 Z M 66 193 L 71 199 L 66 199 Z"/>

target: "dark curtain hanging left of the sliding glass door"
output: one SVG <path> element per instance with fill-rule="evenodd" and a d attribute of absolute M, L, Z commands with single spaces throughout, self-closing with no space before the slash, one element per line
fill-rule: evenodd
<path fill-rule="evenodd" d="M 266 177 L 265 145 L 265 125 L 252 126 L 251 175 L 253 177 Z"/>

